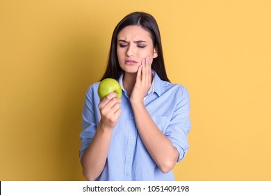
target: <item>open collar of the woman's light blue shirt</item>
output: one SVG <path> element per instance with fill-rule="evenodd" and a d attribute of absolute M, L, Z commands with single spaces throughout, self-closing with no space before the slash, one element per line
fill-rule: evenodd
<path fill-rule="evenodd" d="M 149 95 L 151 95 L 154 92 L 156 92 L 158 96 L 161 95 L 161 81 L 162 80 L 160 79 L 160 77 L 157 75 L 157 73 L 154 70 L 151 70 L 151 75 L 154 77 L 154 79 L 151 82 L 151 87 L 147 91 L 144 100 L 148 98 Z M 120 86 L 122 87 L 122 90 L 126 93 L 123 83 L 122 83 L 122 79 L 123 79 L 123 73 L 122 75 L 120 75 L 118 81 L 120 83 Z"/>

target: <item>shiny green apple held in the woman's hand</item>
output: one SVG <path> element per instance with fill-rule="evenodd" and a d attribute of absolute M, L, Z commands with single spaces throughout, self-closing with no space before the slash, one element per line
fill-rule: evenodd
<path fill-rule="evenodd" d="M 117 93 L 117 98 L 122 97 L 122 87 L 115 79 L 107 78 L 100 82 L 98 86 L 98 95 L 100 99 L 103 99 L 109 93 Z"/>

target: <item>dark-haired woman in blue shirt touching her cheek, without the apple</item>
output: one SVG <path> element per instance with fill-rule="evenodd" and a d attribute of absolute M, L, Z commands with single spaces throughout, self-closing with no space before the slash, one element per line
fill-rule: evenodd
<path fill-rule="evenodd" d="M 131 13 L 117 24 L 105 78 L 119 81 L 122 98 L 100 100 L 99 82 L 88 88 L 79 153 L 85 178 L 174 180 L 188 150 L 190 98 L 167 78 L 154 17 Z"/>

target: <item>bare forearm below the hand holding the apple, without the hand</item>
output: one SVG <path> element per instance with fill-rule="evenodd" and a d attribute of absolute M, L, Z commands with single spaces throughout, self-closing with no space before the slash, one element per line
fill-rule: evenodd
<path fill-rule="evenodd" d="M 90 146 L 81 158 L 83 175 L 87 180 L 95 180 L 104 170 L 111 134 L 112 130 L 107 130 L 101 124 L 98 125 Z"/>

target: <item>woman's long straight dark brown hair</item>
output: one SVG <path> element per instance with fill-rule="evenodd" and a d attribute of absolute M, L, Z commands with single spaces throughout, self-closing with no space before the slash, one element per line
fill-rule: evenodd
<path fill-rule="evenodd" d="M 158 56 L 153 59 L 151 69 L 153 69 L 163 81 L 170 82 L 170 79 L 167 78 L 167 73 L 165 71 L 161 35 L 158 24 L 152 15 L 143 12 L 135 12 L 126 15 L 126 17 L 124 17 L 115 27 L 111 39 L 106 72 L 104 72 L 104 76 L 101 78 L 101 80 L 106 78 L 118 79 L 122 74 L 123 70 L 120 68 L 120 64 L 117 60 L 117 35 L 122 29 L 124 29 L 124 27 L 131 25 L 141 26 L 151 34 L 151 40 L 158 53 Z"/>

